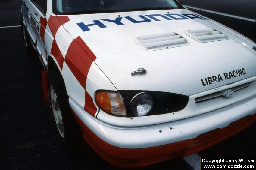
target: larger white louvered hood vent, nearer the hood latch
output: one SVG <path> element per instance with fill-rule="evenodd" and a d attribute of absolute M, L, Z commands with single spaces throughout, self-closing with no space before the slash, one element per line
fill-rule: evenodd
<path fill-rule="evenodd" d="M 139 44 L 142 49 L 155 51 L 159 49 L 167 49 L 178 46 L 189 45 L 188 41 L 175 32 L 146 35 L 135 38 L 134 41 Z"/>

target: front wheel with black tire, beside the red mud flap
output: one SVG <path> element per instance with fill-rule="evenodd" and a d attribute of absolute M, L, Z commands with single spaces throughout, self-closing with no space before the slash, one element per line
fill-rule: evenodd
<path fill-rule="evenodd" d="M 62 141 L 62 144 L 67 149 L 75 151 L 81 146 L 81 142 L 84 141 L 82 139 L 81 129 L 77 124 L 70 108 L 66 88 L 60 76 L 61 75 L 57 69 L 52 70 L 52 72 L 50 72 L 48 75 L 48 94 L 50 99 L 52 117 L 54 119 L 53 121 L 58 131 L 58 135 Z M 53 100 L 54 94 L 56 94 L 55 103 Z M 58 102 L 58 104 L 56 102 Z M 61 115 L 63 129 L 62 127 L 57 125 L 60 124 L 61 121 L 56 120 L 56 111 L 60 111 L 58 112 L 58 114 L 60 113 Z M 58 118 L 60 118 L 59 115 Z"/>

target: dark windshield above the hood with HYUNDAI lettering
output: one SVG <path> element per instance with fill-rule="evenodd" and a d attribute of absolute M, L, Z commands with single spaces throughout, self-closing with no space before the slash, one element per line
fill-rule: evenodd
<path fill-rule="evenodd" d="M 58 14 L 183 8 L 176 0 L 55 0 Z"/>

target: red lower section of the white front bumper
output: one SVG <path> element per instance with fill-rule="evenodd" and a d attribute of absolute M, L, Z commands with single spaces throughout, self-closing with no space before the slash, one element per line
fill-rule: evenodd
<path fill-rule="evenodd" d="M 165 160 L 195 154 L 233 136 L 256 120 L 256 114 L 248 115 L 232 122 L 227 127 L 201 134 L 194 139 L 151 148 L 126 149 L 110 145 L 100 139 L 81 121 L 75 112 L 73 113 L 82 129 L 86 142 L 106 161 L 114 166 L 123 168 L 148 166 Z"/>

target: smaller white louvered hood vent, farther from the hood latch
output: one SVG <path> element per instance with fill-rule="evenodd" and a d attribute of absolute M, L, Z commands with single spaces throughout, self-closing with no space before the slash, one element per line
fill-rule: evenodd
<path fill-rule="evenodd" d="M 222 32 L 217 31 L 216 29 L 213 29 L 213 28 L 189 30 L 189 31 L 185 31 L 185 33 L 189 37 L 192 37 L 195 40 L 202 43 L 229 39 L 226 36 L 226 34 L 223 34 Z"/>

